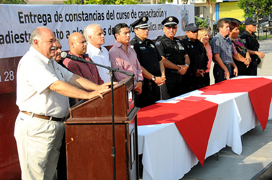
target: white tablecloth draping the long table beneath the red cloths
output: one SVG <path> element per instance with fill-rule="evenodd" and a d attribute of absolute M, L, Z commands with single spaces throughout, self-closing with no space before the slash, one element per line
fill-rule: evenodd
<path fill-rule="evenodd" d="M 237 78 L 252 77 L 260 76 Z M 272 79 L 271 76 L 265 77 Z M 240 136 L 259 124 L 248 93 L 200 95 L 201 93 L 202 91 L 196 90 L 180 97 L 206 97 L 206 101 L 218 104 L 205 158 L 219 152 L 226 145 L 233 152 L 241 154 Z M 269 118 L 272 118 L 272 106 Z M 138 153 L 143 154 L 143 180 L 178 180 L 198 163 L 175 123 L 138 126 Z"/>

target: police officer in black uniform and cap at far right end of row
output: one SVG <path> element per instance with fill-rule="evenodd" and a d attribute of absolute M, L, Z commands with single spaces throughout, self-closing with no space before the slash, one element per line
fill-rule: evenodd
<path fill-rule="evenodd" d="M 245 26 L 246 30 L 240 38 L 245 39 L 245 46 L 248 49 L 251 58 L 251 63 L 246 69 L 246 75 L 257 75 L 257 64 L 261 62 L 259 57 L 264 58 L 265 54 L 258 51 L 260 44 L 257 40 L 257 36 L 254 34 L 254 32 L 256 32 L 257 22 L 249 17 L 245 20 Z"/>

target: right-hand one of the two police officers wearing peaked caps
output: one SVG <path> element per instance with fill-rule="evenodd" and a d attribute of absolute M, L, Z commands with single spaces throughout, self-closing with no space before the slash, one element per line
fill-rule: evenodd
<path fill-rule="evenodd" d="M 177 33 L 179 20 L 174 16 L 169 16 L 162 21 L 163 36 L 156 39 L 156 47 L 162 56 L 165 67 L 166 83 L 162 85 L 162 99 L 167 100 L 180 96 L 184 93 L 182 86 L 182 74 L 184 74 L 190 64 L 189 56 L 185 51 L 181 40 L 174 37 Z"/>

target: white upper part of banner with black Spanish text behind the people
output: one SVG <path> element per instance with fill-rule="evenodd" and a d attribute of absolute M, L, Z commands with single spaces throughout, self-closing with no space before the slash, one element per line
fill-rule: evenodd
<path fill-rule="evenodd" d="M 88 24 L 100 24 L 105 44 L 113 45 L 112 28 L 118 23 L 130 25 L 148 16 L 150 39 L 163 35 L 161 22 L 176 16 L 180 23 L 176 36 L 185 35 L 185 26 L 194 22 L 193 4 L 137 5 L 22 5 L 0 4 L 0 58 L 23 56 L 29 49 L 29 37 L 38 26 L 46 26 L 60 39 L 62 50 L 69 50 L 68 37 L 73 32 L 84 33 Z M 134 37 L 134 33 L 131 38 Z"/>

